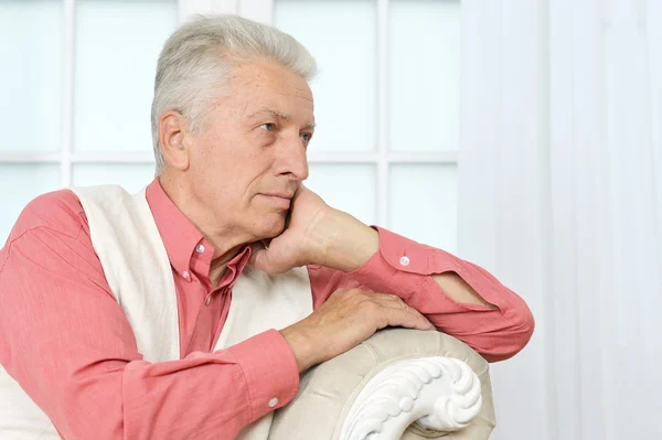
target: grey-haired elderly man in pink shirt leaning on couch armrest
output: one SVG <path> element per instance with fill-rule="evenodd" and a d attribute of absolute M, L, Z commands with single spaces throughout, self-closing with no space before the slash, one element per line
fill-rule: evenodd
<path fill-rule="evenodd" d="M 236 17 L 168 40 L 157 179 L 42 195 L 0 251 L 0 438 L 265 440 L 301 372 L 378 329 L 437 329 L 488 361 L 527 343 L 527 307 L 487 271 L 301 184 L 313 71 Z"/>

